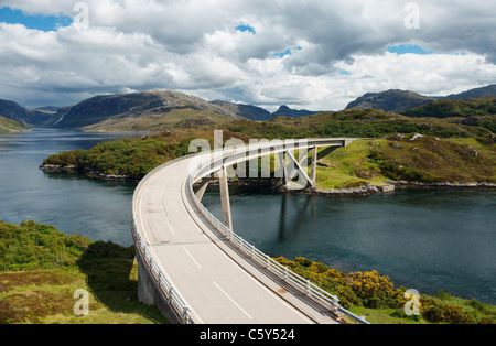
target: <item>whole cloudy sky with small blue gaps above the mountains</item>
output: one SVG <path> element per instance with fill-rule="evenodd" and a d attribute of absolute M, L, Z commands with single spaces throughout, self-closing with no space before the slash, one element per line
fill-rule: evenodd
<path fill-rule="evenodd" d="M 496 84 L 496 0 L 0 0 L 0 99 L 171 89 L 341 110 Z"/>

